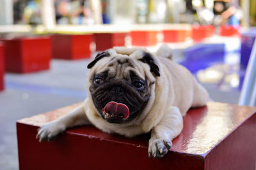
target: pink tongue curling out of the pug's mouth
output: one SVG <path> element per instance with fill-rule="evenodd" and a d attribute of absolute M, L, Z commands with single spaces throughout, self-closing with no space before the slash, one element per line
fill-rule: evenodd
<path fill-rule="evenodd" d="M 105 113 L 111 113 L 114 115 L 122 114 L 126 119 L 129 117 L 129 108 L 122 103 L 116 103 L 115 101 L 111 101 L 104 107 Z"/>

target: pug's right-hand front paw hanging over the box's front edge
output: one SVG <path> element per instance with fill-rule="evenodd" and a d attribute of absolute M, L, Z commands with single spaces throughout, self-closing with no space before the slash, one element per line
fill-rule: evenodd
<path fill-rule="evenodd" d="M 148 157 L 163 157 L 172 146 L 169 139 L 150 139 L 148 142 Z"/>

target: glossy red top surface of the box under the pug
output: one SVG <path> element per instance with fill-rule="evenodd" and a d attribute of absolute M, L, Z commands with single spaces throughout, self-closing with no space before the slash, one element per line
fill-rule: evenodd
<path fill-rule="evenodd" d="M 79 104 L 30 118 L 23 118 L 18 123 L 40 126 L 67 114 Z M 228 134 L 237 129 L 245 120 L 252 117 L 255 111 L 256 108 L 248 106 L 215 102 L 209 102 L 203 108 L 191 109 L 184 117 L 184 129 L 182 133 L 173 139 L 171 150 L 174 152 L 205 156 L 206 153 L 225 139 Z M 141 147 L 148 147 L 148 139 L 150 138 L 148 134 L 136 138 L 125 138 L 116 134 L 107 134 L 92 126 L 76 127 L 67 130 L 67 133 Z"/>

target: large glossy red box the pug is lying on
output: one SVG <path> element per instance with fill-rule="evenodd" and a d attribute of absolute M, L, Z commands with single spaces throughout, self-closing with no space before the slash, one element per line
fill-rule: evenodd
<path fill-rule="evenodd" d="M 38 126 L 78 105 L 17 122 L 20 170 L 255 169 L 256 108 L 211 102 L 189 110 L 184 129 L 161 159 L 148 159 L 149 134 L 125 138 L 84 126 L 50 143 L 35 139 Z"/>

